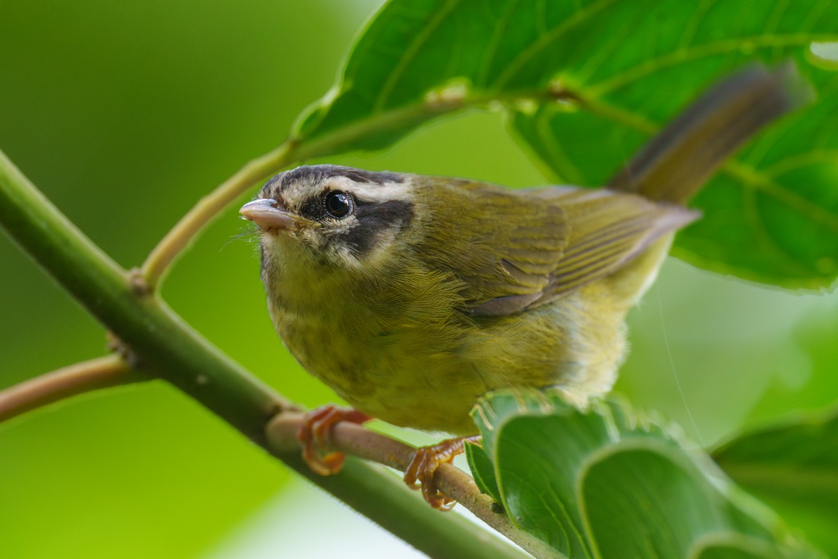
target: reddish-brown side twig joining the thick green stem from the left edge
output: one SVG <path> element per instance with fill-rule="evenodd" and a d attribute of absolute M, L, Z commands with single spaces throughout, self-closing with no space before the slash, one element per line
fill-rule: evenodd
<path fill-rule="evenodd" d="M 145 379 L 119 355 L 69 365 L 0 391 L 0 422 L 70 396 Z"/>

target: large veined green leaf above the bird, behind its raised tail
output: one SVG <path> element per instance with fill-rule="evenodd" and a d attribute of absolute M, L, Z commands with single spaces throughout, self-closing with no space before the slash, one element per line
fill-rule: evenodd
<path fill-rule="evenodd" d="M 676 250 L 761 282 L 826 287 L 838 276 L 838 75 L 812 64 L 814 40 L 838 40 L 838 3 L 393 0 L 294 137 L 318 156 L 384 148 L 442 113 L 503 106 L 552 179 L 600 185 L 711 81 L 792 58 L 820 101 L 712 181 L 696 199 L 705 219 Z"/>

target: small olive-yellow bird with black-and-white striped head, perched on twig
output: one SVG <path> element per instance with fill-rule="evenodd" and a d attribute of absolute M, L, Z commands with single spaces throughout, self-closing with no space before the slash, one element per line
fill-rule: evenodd
<path fill-rule="evenodd" d="M 476 432 L 478 397 L 555 386 L 584 406 L 626 353 L 623 320 L 649 288 L 684 204 L 741 144 L 798 104 L 789 65 L 716 85 L 603 189 L 494 184 L 336 165 L 268 180 L 241 215 L 261 230 L 261 279 L 277 333 L 354 410 L 310 412 L 308 463 L 337 421 Z M 406 482 L 431 505 L 463 439 L 420 449 Z"/>

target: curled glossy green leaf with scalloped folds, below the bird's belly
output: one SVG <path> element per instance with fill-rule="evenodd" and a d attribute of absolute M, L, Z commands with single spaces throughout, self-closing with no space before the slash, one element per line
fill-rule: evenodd
<path fill-rule="evenodd" d="M 706 454 L 621 405 L 499 391 L 473 417 L 491 458 L 476 478 L 494 475 L 510 518 L 566 556 L 818 556 Z"/>

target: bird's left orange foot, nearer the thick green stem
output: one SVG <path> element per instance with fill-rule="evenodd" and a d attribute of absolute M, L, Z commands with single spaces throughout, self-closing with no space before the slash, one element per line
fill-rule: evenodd
<path fill-rule="evenodd" d="M 365 413 L 333 404 L 307 411 L 303 425 L 297 431 L 297 439 L 303 444 L 303 460 L 320 475 L 337 474 L 344 465 L 344 453 L 321 454 L 318 449 L 328 447 L 328 437 L 335 423 L 352 422 L 360 425 L 370 419 L 372 417 Z"/>

